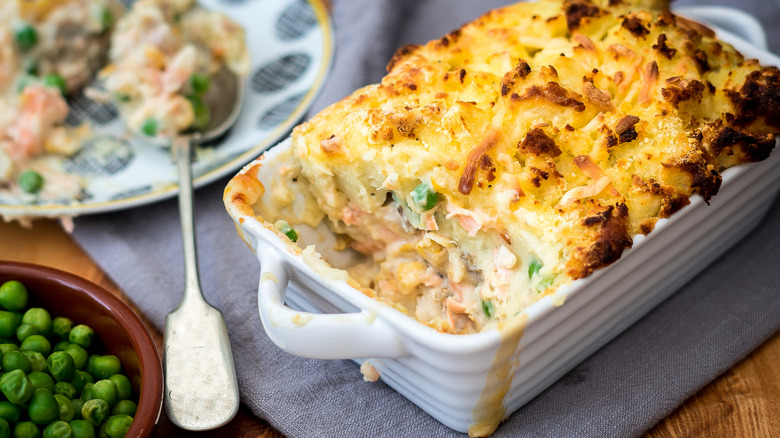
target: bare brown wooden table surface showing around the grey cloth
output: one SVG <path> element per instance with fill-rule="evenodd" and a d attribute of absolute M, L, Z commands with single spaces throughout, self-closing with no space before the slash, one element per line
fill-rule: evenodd
<path fill-rule="evenodd" d="M 0 260 L 51 266 L 91 280 L 123 297 L 100 268 L 62 230 L 59 223 L 39 220 L 25 229 L 0 220 Z M 132 303 L 130 303 L 132 306 Z M 143 318 L 143 316 L 141 316 Z M 149 326 L 151 327 L 151 326 Z M 162 336 L 151 330 L 162 351 Z M 185 433 L 161 415 L 157 437 L 281 437 L 242 405 L 228 425 L 209 432 Z M 780 333 L 775 334 L 724 375 L 688 399 L 657 424 L 647 437 L 778 437 L 780 436 Z"/>

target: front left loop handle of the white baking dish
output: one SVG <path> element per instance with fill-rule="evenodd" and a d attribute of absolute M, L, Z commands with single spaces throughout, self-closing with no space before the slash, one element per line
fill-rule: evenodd
<path fill-rule="evenodd" d="M 258 248 L 258 254 L 262 248 Z M 270 251 L 269 251 L 270 252 Z M 400 357 L 403 344 L 392 328 L 370 311 L 319 314 L 284 304 L 289 272 L 266 253 L 260 260 L 257 304 L 268 337 L 282 350 L 313 359 Z"/>

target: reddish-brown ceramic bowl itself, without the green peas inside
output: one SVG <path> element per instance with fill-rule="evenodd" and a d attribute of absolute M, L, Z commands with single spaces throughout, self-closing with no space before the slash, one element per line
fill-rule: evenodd
<path fill-rule="evenodd" d="M 95 330 L 103 354 L 114 354 L 133 383 L 138 410 L 128 437 L 148 437 L 160 418 L 163 372 L 154 341 L 138 316 L 102 287 L 67 272 L 28 263 L 0 261 L 0 284 L 18 280 L 30 294 L 28 307 L 66 316 Z"/>

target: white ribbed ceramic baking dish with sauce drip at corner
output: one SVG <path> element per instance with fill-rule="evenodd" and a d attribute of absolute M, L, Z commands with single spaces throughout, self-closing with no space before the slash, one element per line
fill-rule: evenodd
<path fill-rule="evenodd" d="M 747 57 L 780 65 L 756 47 L 765 41 L 751 17 L 727 8 L 687 9 L 686 15 L 697 18 L 697 10 L 704 12 L 700 19 L 736 23 L 733 32 L 718 30 Z M 736 18 L 728 21 L 729 15 Z M 780 189 L 778 152 L 729 169 L 709 204 L 694 197 L 647 238 L 636 237 L 620 260 L 531 305 L 505 330 L 453 335 L 321 275 L 304 262 L 300 247 L 257 220 L 251 206 L 258 193 L 239 180 L 267 181 L 274 174 L 270 163 L 289 147 L 288 139 L 245 166 L 225 192 L 226 208 L 260 262 L 258 304 L 269 337 L 299 356 L 368 362 L 430 415 L 472 435 L 491 433 L 728 250 L 761 221 Z"/>

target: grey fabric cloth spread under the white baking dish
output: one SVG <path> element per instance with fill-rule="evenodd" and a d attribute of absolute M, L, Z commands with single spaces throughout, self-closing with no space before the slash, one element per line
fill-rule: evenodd
<path fill-rule="evenodd" d="M 379 80 L 399 45 L 438 37 L 499 3 L 334 0 L 335 61 L 313 111 Z M 755 14 L 780 52 L 780 1 L 711 3 Z M 225 314 L 242 401 L 291 437 L 461 436 L 384 384 L 363 382 L 353 362 L 301 359 L 269 341 L 256 308 L 257 261 L 222 205 L 226 181 L 198 190 L 196 225 L 203 287 Z M 651 428 L 780 329 L 778 230 L 776 204 L 747 239 L 517 411 L 495 436 L 636 436 Z M 175 200 L 78 218 L 74 237 L 162 329 L 183 290 Z"/>

